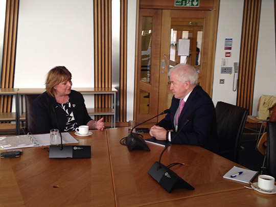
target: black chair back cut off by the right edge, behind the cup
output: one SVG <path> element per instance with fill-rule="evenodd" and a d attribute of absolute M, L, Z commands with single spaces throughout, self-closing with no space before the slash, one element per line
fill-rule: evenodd
<path fill-rule="evenodd" d="M 267 152 L 266 152 L 267 172 L 271 176 L 276 177 L 276 122 L 267 123 L 267 148 L 266 149 L 267 149 Z"/>

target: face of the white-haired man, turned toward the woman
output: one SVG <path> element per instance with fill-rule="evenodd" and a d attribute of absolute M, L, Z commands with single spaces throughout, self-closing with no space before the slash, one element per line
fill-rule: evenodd
<path fill-rule="evenodd" d="M 188 93 L 189 83 L 185 81 L 182 83 L 178 80 L 175 73 L 173 72 L 170 76 L 171 86 L 170 90 L 174 94 L 176 99 L 183 99 Z"/>

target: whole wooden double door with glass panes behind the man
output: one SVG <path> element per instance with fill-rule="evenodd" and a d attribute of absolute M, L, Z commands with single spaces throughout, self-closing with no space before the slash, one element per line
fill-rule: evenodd
<path fill-rule="evenodd" d="M 168 72 L 178 63 L 195 66 L 198 84 L 212 97 L 216 29 L 210 11 L 139 11 L 135 121 L 143 122 L 170 107 L 173 94 Z"/>

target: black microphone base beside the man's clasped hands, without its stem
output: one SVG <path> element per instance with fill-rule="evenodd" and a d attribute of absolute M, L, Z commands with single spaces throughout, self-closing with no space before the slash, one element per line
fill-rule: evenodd
<path fill-rule="evenodd" d="M 129 151 L 135 149 L 150 151 L 150 148 L 146 144 L 145 140 L 138 134 L 132 132 L 130 132 L 130 134 L 126 137 L 126 145 Z"/>

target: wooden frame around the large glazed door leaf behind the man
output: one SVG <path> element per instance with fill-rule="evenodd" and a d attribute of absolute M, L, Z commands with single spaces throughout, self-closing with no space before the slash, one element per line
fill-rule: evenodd
<path fill-rule="evenodd" d="M 200 17 L 198 16 L 200 14 Z M 163 10 L 163 22 L 162 22 L 162 39 L 161 39 L 161 50 L 160 50 L 160 57 L 163 59 L 163 56 L 166 55 L 169 57 L 170 51 L 170 44 L 168 38 L 170 38 L 170 25 L 171 25 L 171 18 L 181 18 L 183 16 L 183 11 L 181 10 Z M 182 18 L 204 18 L 204 26 L 203 26 L 203 39 L 202 39 L 202 48 L 201 48 L 201 71 L 199 73 L 199 84 L 203 87 L 203 89 L 212 97 L 212 90 L 213 90 L 213 76 L 214 76 L 214 59 L 215 53 L 210 53 L 210 48 L 214 41 L 211 41 L 214 37 L 211 27 L 211 14 L 209 11 L 185 11 L 185 16 Z M 216 36 L 216 35 L 215 35 Z M 164 44 L 164 42 L 168 42 Z M 215 45 L 215 43 L 214 43 Z M 160 77 L 159 77 L 159 85 L 168 81 L 168 71 L 160 68 Z M 204 77 L 204 78 L 203 78 Z M 167 86 L 168 87 L 168 86 Z M 166 87 L 166 88 L 167 88 Z M 162 112 L 166 109 L 167 105 L 167 92 L 165 86 L 164 88 L 159 88 L 159 102 L 158 102 L 158 112 Z"/>

